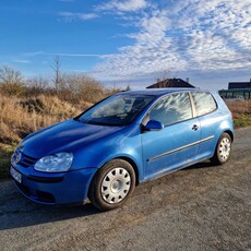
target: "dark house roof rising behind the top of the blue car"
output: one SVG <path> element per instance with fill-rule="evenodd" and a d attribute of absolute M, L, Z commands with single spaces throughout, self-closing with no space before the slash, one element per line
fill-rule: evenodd
<path fill-rule="evenodd" d="M 181 79 L 166 79 L 164 81 L 158 81 L 155 84 L 147 86 L 146 88 L 170 88 L 170 87 L 184 87 L 184 88 L 194 88 L 193 85 Z"/>

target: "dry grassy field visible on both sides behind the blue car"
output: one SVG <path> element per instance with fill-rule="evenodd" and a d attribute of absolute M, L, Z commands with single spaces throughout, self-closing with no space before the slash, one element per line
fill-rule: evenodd
<path fill-rule="evenodd" d="M 17 143 L 27 134 L 58 121 L 72 118 L 92 104 L 71 104 L 59 97 L 8 97 L 0 93 L 0 179 L 9 178 L 10 157 Z M 251 100 L 227 104 L 235 128 L 251 125 Z"/>

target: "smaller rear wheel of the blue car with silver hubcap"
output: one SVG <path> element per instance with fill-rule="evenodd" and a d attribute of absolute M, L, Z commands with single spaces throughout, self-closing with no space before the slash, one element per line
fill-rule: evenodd
<path fill-rule="evenodd" d="M 216 145 L 214 156 L 211 162 L 214 165 L 223 165 L 228 162 L 231 153 L 231 138 L 228 133 L 223 133 Z"/>

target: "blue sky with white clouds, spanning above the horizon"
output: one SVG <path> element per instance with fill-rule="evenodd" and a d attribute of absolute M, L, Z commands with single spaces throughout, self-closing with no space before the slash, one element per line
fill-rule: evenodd
<path fill-rule="evenodd" d="M 25 77 L 49 77 L 55 56 L 111 86 L 251 77 L 250 0 L 1 0 L 0 37 L 0 67 Z"/>

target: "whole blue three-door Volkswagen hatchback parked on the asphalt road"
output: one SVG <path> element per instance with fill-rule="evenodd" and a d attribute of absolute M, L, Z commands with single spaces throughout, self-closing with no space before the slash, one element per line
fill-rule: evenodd
<path fill-rule="evenodd" d="M 121 206 L 139 183 L 208 158 L 225 164 L 232 141 L 231 113 L 217 93 L 124 92 L 28 135 L 11 158 L 10 174 L 32 201 L 89 199 L 107 211 Z"/>

